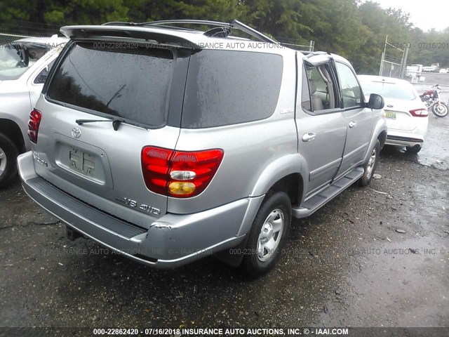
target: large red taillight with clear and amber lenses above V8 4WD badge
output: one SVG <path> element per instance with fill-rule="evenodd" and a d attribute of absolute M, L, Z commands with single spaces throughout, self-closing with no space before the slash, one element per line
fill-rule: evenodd
<path fill-rule="evenodd" d="M 194 197 L 206 189 L 223 159 L 223 150 L 175 151 L 146 146 L 142 173 L 152 192 L 169 197 Z"/>

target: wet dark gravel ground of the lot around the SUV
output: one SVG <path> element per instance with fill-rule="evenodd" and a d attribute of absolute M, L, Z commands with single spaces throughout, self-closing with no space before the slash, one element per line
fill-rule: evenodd
<path fill-rule="evenodd" d="M 253 282 L 214 258 L 159 271 L 69 242 L 15 183 L 0 192 L 0 326 L 449 326 L 448 169 L 449 117 L 431 115 L 420 154 L 385 147 L 381 178 L 295 220 Z"/>

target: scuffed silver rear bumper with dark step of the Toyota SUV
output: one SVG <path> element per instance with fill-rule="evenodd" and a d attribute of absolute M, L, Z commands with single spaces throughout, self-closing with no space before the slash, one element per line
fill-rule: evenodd
<path fill-rule="evenodd" d="M 153 267 L 177 267 L 240 244 L 262 197 L 180 215 L 167 213 L 149 229 L 127 223 L 76 199 L 34 171 L 32 152 L 18 157 L 25 192 L 70 227 L 128 258 Z M 250 226 L 249 226 L 250 227 Z"/>

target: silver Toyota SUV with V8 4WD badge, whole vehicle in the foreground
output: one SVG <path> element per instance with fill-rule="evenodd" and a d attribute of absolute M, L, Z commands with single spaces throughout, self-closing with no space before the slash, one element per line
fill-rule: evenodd
<path fill-rule="evenodd" d="M 283 48 L 236 20 L 61 31 L 71 40 L 18 166 L 71 239 L 161 268 L 218 253 L 257 277 L 280 257 L 292 217 L 370 183 L 383 98 L 365 102 L 340 56 Z"/>

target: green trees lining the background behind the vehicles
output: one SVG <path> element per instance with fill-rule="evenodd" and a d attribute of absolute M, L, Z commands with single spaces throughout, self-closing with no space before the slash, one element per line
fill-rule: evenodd
<path fill-rule="evenodd" d="M 279 41 L 309 44 L 348 58 L 359 73 L 376 74 L 385 37 L 410 43 L 408 64 L 449 67 L 449 27 L 422 32 L 408 13 L 362 0 L 2 0 L 0 30 L 55 32 L 62 25 L 168 19 L 228 21 L 236 18 Z M 30 23 L 31 22 L 31 23 Z M 25 27 L 25 28 L 24 28 Z M 36 29 L 32 32 L 32 29 Z M 18 32 L 18 31 L 17 31 Z M 435 44 L 434 44 L 435 43 Z M 441 43 L 438 45 L 438 43 Z M 446 48 L 437 48 L 445 46 Z M 389 55 L 401 52 L 389 48 Z"/>

